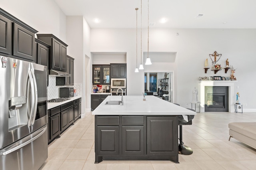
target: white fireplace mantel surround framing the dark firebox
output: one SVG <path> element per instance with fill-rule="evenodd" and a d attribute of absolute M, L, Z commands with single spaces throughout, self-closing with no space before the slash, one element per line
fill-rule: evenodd
<path fill-rule="evenodd" d="M 204 112 L 204 87 L 205 86 L 228 86 L 228 112 L 234 112 L 234 82 L 236 81 L 199 81 L 198 92 L 201 112 Z"/>

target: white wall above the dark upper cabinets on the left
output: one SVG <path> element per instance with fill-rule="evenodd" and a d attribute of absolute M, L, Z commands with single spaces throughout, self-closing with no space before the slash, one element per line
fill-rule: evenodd
<path fill-rule="evenodd" d="M 0 8 L 38 31 L 66 43 L 66 16 L 54 0 L 1 0 Z"/>

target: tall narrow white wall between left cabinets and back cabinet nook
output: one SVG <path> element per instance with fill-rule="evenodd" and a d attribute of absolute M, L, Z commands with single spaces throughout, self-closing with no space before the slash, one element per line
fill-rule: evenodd
<path fill-rule="evenodd" d="M 82 103 L 90 106 L 90 87 L 88 72 L 90 70 L 90 27 L 83 16 L 67 16 L 67 54 L 74 58 L 74 83 L 82 84 Z M 88 83 L 88 84 L 87 84 Z M 82 105 L 82 113 L 87 106 Z M 90 108 L 90 107 L 89 107 Z"/>

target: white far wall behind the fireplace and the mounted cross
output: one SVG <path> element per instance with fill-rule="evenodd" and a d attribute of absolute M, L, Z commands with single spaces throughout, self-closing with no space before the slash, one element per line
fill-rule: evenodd
<path fill-rule="evenodd" d="M 179 36 L 176 36 L 176 33 Z M 143 30 L 142 51 L 147 51 L 146 33 Z M 143 38 L 142 37 L 142 38 Z M 140 41 L 140 40 L 138 40 Z M 204 61 L 209 54 L 217 51 L 222 54 L 218 61 L 223 67 L 228 58 L 230 65 L 236 69 L 235 93 L 240 93 L 241 103 L 246 103 L 244 109 L 256 109 L 256 91 L 253 79 L 255 71 L 254 49 L 256 44 L 256 29 L 150 29 L 149 51 L 172 51 L 177 52 L 177 71 L 175 72 L 175 102 L 186 107 L 186 103 L 192 100 L 192 90 L 198 87 L 198 78 L 214 76 L 208 70 L 204 73 Z M 134 73 L 136 68 L 136 32 L 135 29 L 92 29 L 91 51 L 126 51 L 127 52 L 127 91 L 128 95 L 140 95 L 144 87 L 144 72 Z M 140 58 L 138 58 L 138 64 Z M 153 71 L 162 72 L 165 67 L 152 65 Z M 169 67 L 175 67 L 171 64 Z M 149 70 L 147 70 L 149 71 Z M 165 71 L 165 70 L 164 70 Z M 217 76 L 228 77 L 224 69 Z M 136 82 L 136 83 L 134 83 Z M 139 85 L 138 85 L 139 84 Z M 235 99 L 234 99 L 235 100 Z M 189 105 L 188 105 L 189 106 Z"/>

